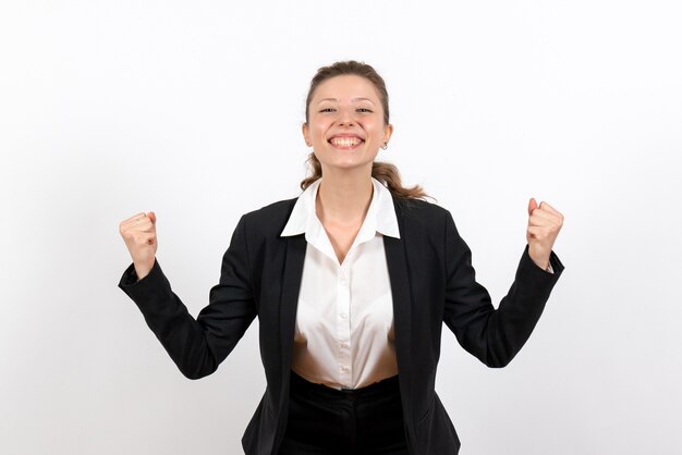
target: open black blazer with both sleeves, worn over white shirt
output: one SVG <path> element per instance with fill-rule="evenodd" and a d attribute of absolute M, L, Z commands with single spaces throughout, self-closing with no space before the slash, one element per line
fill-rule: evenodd
<path fill-rule="evenodd" d="M 133 266 L 119 286 L 191 379 L 216 371 L 254 318 L 267 388 L 242 445 L 248 455 L 277 455 L 284 434 L 299 288 L 306 241 L 280 237 L 296 199 L 247 213 L 222 258 L 220 282 L 195 320 L 171 291 L 158 262 L 136 282 Z M 476 282 L 471 251 L 450 212 L 422 200 L 393 198 L 400 237 L 383 237 L 395 328 L 405 435 L 414 455 L 456 454 L 460 441 L 434 390 L 442 323 L 489 367 L 506 366 L 533 331 L 563 266 L 555 273 L 523 253 L 509 293 L 496 310 Z"/>

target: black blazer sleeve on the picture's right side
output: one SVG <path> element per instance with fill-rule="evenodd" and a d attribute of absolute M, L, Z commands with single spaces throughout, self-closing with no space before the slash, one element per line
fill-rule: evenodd
<path fill-rule="evenodd" d="M 504 367 L 531 336 L 563 265 L 552 251 L 553 273 L 540 269 L 528 256 L 526 245 L 514 282 L 495 309 L 486 288 L 476 282 L 471 250 L 449 212 L 446 255 L 446 324 L 462 347 L 480 361 L 488 367 Z"/>

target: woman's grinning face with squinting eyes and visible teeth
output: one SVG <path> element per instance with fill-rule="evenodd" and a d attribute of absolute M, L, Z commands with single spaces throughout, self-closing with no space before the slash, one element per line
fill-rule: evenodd
<path fill-rule="evenodd" d="M 393 127 L 374 84 L 356 75 L 331 77 L 317 86 L 303 137 L 325 170 L 368 168 Z"/>

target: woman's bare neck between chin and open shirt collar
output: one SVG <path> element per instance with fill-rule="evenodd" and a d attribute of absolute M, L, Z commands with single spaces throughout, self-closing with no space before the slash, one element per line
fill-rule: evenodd
<path fill-rule="evenodd" d="M 360 171 L 360 170 L 358 170 Z M 362 223 L 372 202 L 372 171 L 329 172 L 322 170 L 317 190 L 317 216 L 322 222 Z"/>

